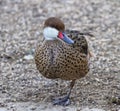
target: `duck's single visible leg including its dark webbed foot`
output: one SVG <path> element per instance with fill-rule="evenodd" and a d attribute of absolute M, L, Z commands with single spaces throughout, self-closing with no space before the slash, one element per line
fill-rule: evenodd
<path fill-rule="evenodd" d="M 65 97 L 54 99 L 53 105 L 62 105 L 62 106 L 69 105 L 70 104 L 70 94 L 71 94 L 71 90 L 72 90 L 74 84 L 75 84 L 75 80 L 72 80 L 72 82 L 70 83 L 70 90 L 69 90 L 68 94 Z"/>

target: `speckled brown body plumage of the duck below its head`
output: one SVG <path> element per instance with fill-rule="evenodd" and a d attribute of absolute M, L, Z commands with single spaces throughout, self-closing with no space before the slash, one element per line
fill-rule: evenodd
<path fill-rule="evenodd" d="M 89 70 L 87 42 L 83 36 L 75 37 L 77 39 L 73 39 L 76 39 L 73 45 L 61 40 L 44 41 L 36 49 L 36 66 L 43 76 L 51 79 L 74 80 L 87 74 Z M 82 44 L 79 44 L 81 41 Z"/>

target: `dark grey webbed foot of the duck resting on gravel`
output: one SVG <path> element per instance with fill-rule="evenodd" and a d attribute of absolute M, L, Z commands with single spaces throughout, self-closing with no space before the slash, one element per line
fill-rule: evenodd
<path fill-rule="evenodd" d="M 68 95 L 65 97 L 57 98 L 53 100 L 53 105 L 68 106 L 69 104 L 70 104 L 70 98 Z"/>

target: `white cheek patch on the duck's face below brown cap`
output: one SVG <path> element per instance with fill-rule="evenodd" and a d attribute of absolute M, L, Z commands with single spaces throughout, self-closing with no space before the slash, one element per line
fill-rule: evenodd
<path fill-rule="evenodd" d="M 46 27 L 43 30 L 43 35 L 46 40 L 54 40 L 57 39 L 59 31 L 52 27 Z"/>

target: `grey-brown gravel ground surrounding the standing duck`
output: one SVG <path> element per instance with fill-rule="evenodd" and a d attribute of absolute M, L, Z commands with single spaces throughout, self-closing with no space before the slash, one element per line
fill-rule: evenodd
<path fill-rule="evenodd" d="M 87 37 L 89 74 L 77 81 L 71 105 L 52 106 L 69 81 L 48 80 L 33 54 L 46 18 L 60 17 L 66 29 Z M 0 111 L 120 111 L 119 0 L 0 0 Z"/>

